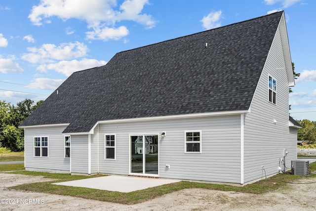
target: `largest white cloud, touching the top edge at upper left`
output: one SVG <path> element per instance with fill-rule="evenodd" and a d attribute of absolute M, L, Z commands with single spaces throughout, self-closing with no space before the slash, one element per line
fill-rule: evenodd
<path fill-rule="evenodd" d="M 149 4 L 148 0 L 124 0 L 119 10 L 115 10 L 117 0 L 41 0 L 33 6 L 29 19 L 34 25 L 42 25 L 44 20 L 53 16 L 65 21 L 77 18 L 86 21 L 88 28 L 95 30 L 86 33 L 87 39 L 118 40 L 128 35 L 125 26 L 115 27 L 119 21 L 129 20 L 146 28 L 155 27 L 156 21 L 152 16 L 142 13 L 145 4 Z"/>

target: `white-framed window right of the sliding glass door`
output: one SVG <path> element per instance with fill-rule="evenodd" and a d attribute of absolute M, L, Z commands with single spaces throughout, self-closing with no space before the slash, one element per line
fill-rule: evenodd
<path fill-rule="evenodd" d="M 185 153 L 202 152 L 202 132 L 201 130 L 185 131 Z"/>

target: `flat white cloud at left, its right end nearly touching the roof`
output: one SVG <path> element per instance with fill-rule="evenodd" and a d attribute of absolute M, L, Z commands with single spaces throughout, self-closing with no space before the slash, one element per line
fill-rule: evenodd
<path fill-rule="evenodd" d="M 106 61 L 98 61 L 96 59 L 82 59 L 72 60 L 72 61 L 60 61 L 54 64 L 43 64 L 40 65 L 37 70 L 41 72 L 46 72 L 47 70 L 54 70 L 56 72 L 62 73 L 65 76 L 70 76 L 72 73 L 79 70 L 85 70 L 93 67 L 99 67 L 106 65 Z"/>

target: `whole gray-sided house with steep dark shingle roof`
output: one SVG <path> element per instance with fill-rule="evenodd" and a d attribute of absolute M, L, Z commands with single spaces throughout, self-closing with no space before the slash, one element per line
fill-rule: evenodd
<path fill-rule="evenodd" d="M 283 11 L 119 52 L 20 125 L 25 168 L 251 183 L 297 158 L 294 84 Z"/>

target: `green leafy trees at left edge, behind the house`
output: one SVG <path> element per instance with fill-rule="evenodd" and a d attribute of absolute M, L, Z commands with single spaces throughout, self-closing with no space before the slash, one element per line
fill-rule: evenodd
<path fill-rule="evenodd" d="M 0 101 L 0 147 L 11 151 L 24 151 L 24 129 L 19 125 L 27 118 L 43 100 L 34 103 L 25 99 L 16 105 L 11 105 L 4 100 Z"/>

